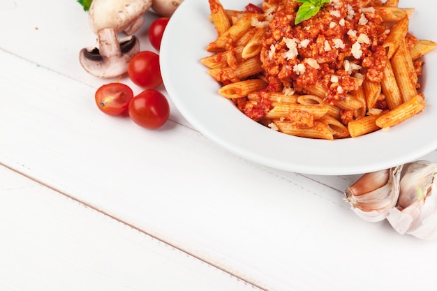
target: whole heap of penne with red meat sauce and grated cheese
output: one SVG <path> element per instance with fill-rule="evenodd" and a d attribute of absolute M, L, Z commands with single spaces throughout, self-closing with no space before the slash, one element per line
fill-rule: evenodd
<path fill-rule="evenodd" d="M 200 59 L 247 117 L 282 133 L 334 140 L 389 128 L 422 112 L 424 54 L 399 0 L 331 0 L 295 24 L 302 3 L 223 8 L 209 0 L 216 40 Z"/>

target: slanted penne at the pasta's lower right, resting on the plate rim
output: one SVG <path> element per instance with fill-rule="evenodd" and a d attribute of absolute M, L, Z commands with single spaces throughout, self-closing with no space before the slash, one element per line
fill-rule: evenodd
<path fill-rule="evenodd" d="M 415 114 L 421 112 L 426 107 L 424 98 L 417 94 L 410 100 L 402 103 L 394 110 L 382 114 L 376 119 L 376 125 L 380 128 L 388 128 L 400 124 L 402 121 L 415 116 Z"/>

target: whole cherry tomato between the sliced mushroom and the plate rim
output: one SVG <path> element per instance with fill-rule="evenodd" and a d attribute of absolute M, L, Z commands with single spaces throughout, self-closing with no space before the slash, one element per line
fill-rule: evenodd
<path fill-rule="evenodd" d="M 158 87 L 163 82 L 158 54 L 147 50 L 135 54 L 128 64 L 128 76 L 140 87 Z"/>

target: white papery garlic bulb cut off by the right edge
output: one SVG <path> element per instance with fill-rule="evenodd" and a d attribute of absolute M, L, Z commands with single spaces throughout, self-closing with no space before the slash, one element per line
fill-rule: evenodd
<path fill-rule="evenodd" d="M 400 234 L 437 239 L 437 164 L 408 163 L 401 174 L 399 202 L 387 221 Z"/>

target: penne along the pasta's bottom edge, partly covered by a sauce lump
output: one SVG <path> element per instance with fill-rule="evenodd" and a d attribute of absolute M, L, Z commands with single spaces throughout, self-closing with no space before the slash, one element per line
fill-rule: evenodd
<path fill-rule="evenodd" d="M 299 137 L 308 137 L 324 140 L 334 140 L 334 136 L 331 131 L 323 122 L 315 121 L 314 126 L 311 128 L 298 128 L 288 121 L 281 121 L 274 119 L 274 124 L 279 128 L 282 133 L 288 135 L 295 135 Z"/>

